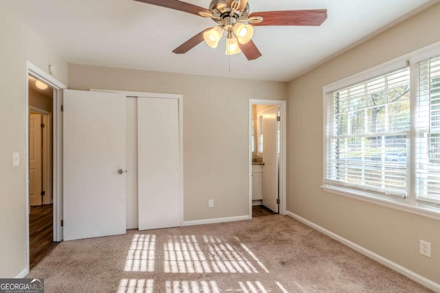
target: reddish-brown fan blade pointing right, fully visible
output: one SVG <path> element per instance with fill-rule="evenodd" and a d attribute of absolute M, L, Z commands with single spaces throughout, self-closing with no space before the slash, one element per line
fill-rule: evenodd
<path fill-rule="evenodd" d="M 315 10 L 285 10 L 253 12 L 252 16 L 261 16 L 261 23 L 251 25 L 321 25 L 327 19 L 327 9 Z"/>

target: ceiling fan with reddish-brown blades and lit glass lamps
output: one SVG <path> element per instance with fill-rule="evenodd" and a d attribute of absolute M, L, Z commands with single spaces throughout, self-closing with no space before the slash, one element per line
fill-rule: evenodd
<path fill-rule="evenodd" d="M 188 12 L 215 21 L 216 27 L 199 32 L 173 50 L 175 54 L 185 54 L 203 40 L 216 48 L 219 40 L 226 35 L 225 54 L 233 55 L 243 51 L 248 60 L 261 56 L 252 41 L 254 26 L 258 25 L 321 25 L 327 19 L 327 9 L 284 10 L 250 13 L 248 0 L 212 0 L 209 9 L 177 0 L 135 0 Z"/>

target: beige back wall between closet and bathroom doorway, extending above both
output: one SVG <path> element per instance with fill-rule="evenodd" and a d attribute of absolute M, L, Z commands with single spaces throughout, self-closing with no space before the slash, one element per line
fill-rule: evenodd
<path fill-rule="evenodd" d="M 249 99 L 285 100 L 285 82 L 69 65 L 69 88 L 184 95 L 184 220 L 248 215 Z"/>

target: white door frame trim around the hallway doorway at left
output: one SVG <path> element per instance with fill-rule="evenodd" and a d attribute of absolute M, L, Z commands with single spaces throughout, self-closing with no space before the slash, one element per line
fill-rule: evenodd
<path fill-rule="evenodd" d="M 24 163 L 25 163 L 25 221 L 26 221 L 26 251 L 25 251 L 25 271 L 29 272 L 30 270 L 30 243 L 29 243 L 29 79 L 28 75 L 36 78 L 37 80 L 41 80 L 45 82 L 49 86 L 54 89 L 54 97 L 52 99 L 52 115 L 53 115 L 53 137 L 52 137 L 52 150 L 53 150 L 53 198 L 54 198 L 54 241 L 59 242 L 63 239 L 63 231 L 61 230 L 61 218 L 63 212 L 63 124 L 61 118 L 61 104 L 63 103 L 63 89 L 67 89 L 67 86 L 62 82 L 56 80 L 56 78 L 52 77 L 49 73 L 43 71 L 36 65 L 32 64 L 32 62 L 26 60 L 25 61 L 25 154 L 24 154 Z"/>

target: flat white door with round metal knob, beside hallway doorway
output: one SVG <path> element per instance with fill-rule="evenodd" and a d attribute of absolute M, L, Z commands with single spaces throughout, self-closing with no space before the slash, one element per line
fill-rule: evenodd
<path fill-rule="evenodd" d="M 126 97 L 64 91 L 64 240 L 126 233 Z"/>

